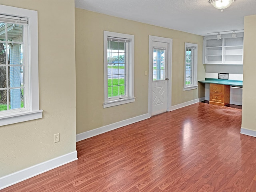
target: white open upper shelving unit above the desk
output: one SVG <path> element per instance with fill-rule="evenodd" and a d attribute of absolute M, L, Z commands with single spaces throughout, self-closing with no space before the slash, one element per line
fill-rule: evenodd
<path fill-rule="evenodd" d="M 216 35 L 204 36 L 204 64 L 243 64 L 244 33 L 223 34 L 217 40 Z"/>

